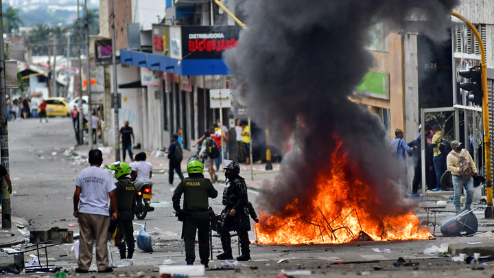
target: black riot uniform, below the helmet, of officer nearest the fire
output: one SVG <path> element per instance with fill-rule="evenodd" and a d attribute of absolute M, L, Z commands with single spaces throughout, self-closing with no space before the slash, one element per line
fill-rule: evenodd
<path fill-rule="evenodd" d="M 228 180 L 223 191 L 224 220 L 222 220 L 219 229 L 220 239 L 225 255 L 232 253 L 230 231 L 237 231 L 240 241 L 242 256 L 250 259 L 250 248 L 248 231 L 250 231 L 250 220 L 246 205 L 248 203 L 247 186 L 244 178 L 236 175 Z M 235 216 L 228 215 L 232 209 L 235 209 Z M 220 258 L 218 258 L 220 259 Z M 238 259 L 238 257 L 237 257 Z"/>

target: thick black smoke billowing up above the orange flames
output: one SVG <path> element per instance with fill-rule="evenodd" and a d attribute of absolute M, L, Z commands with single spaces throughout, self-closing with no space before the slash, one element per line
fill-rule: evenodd
<path fill-rule="evenodd" d="M 248 30 L 225 56 L 235 98 L 259 126 L 270 129 L 272 143 L 292 146 L 278 178 L 266 184 L 262 205 L 271 212 L 294 198 L 307 205 L 315 179 L 331 170 L 331 154 L 342 141 L 354 165 L 346 175 L 371 185 L 380 200 L 376 212 L 403 208 L 399 190 L 390 185 L 399 170 L 386 130 L 377 115 L 349 96 L 373 65 L 366 49 L 371 26 L 384 23 L 399 30 L 406 20 L 421 19 L 433 23 L 427 34 L 447 38 L 449 14 L 458 0 L 249 3 Z"/>

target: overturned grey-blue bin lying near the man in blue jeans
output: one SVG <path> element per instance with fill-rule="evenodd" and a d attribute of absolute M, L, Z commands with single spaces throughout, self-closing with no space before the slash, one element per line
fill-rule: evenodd
<path fill-rule="evenodd" d="M 473 209 L 464 209 L 454 218 L 451 218 L 445 224 L 441 225 L 441 233 L 446 236 L 473 235 L 477 233 L 478 220 Z"/>

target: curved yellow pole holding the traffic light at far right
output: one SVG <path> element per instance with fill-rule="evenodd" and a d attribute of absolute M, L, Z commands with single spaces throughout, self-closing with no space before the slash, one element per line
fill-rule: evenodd
<path fill-rule="evenodd" d="M 475 26 L 470 21 L 465 19 L 461 14 L 457 12 L 451 12 L 453 16 L 467 24 L 471 32 L 475 34 L 477 43 L 480 48 L 480 67 L 482 68 L 482 120 L 484 123 L 484 154 L 485 154 L 485 176 L 487 183 L 487 208 L 485 211 L 486 218 L 493 218 L 493 192 L 492 192 L 492 172 L 491 172 L 491 134 L 489 132 L 489 108 L 487 104 L 489 99 L 487 98 L 487 64 L 485 58 L 484 43 L 482 38 L 478 34 Z"/>

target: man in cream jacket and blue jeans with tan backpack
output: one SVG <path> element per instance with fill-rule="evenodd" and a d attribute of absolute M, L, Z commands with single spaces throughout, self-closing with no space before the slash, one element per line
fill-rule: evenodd
<path fill-rule="evenodd" d="M 464 187 L 467 192 L 467 198 L 465 199 L 465 209 L 471 209 L 471 202 L 473 199 L 473 178 L 477 176 L 477 167 L 471 158 L 469 152 L 460 147 L 461 143 L 458 141 L 451 142 L 451 148 L 453 149 L 447 155 L 447 169 L 451 171 L 453 186 L 455 190 L 454 194 L 454 206 L 456 213 L 461 210 L 460 206 L 460 194 Z"/>

